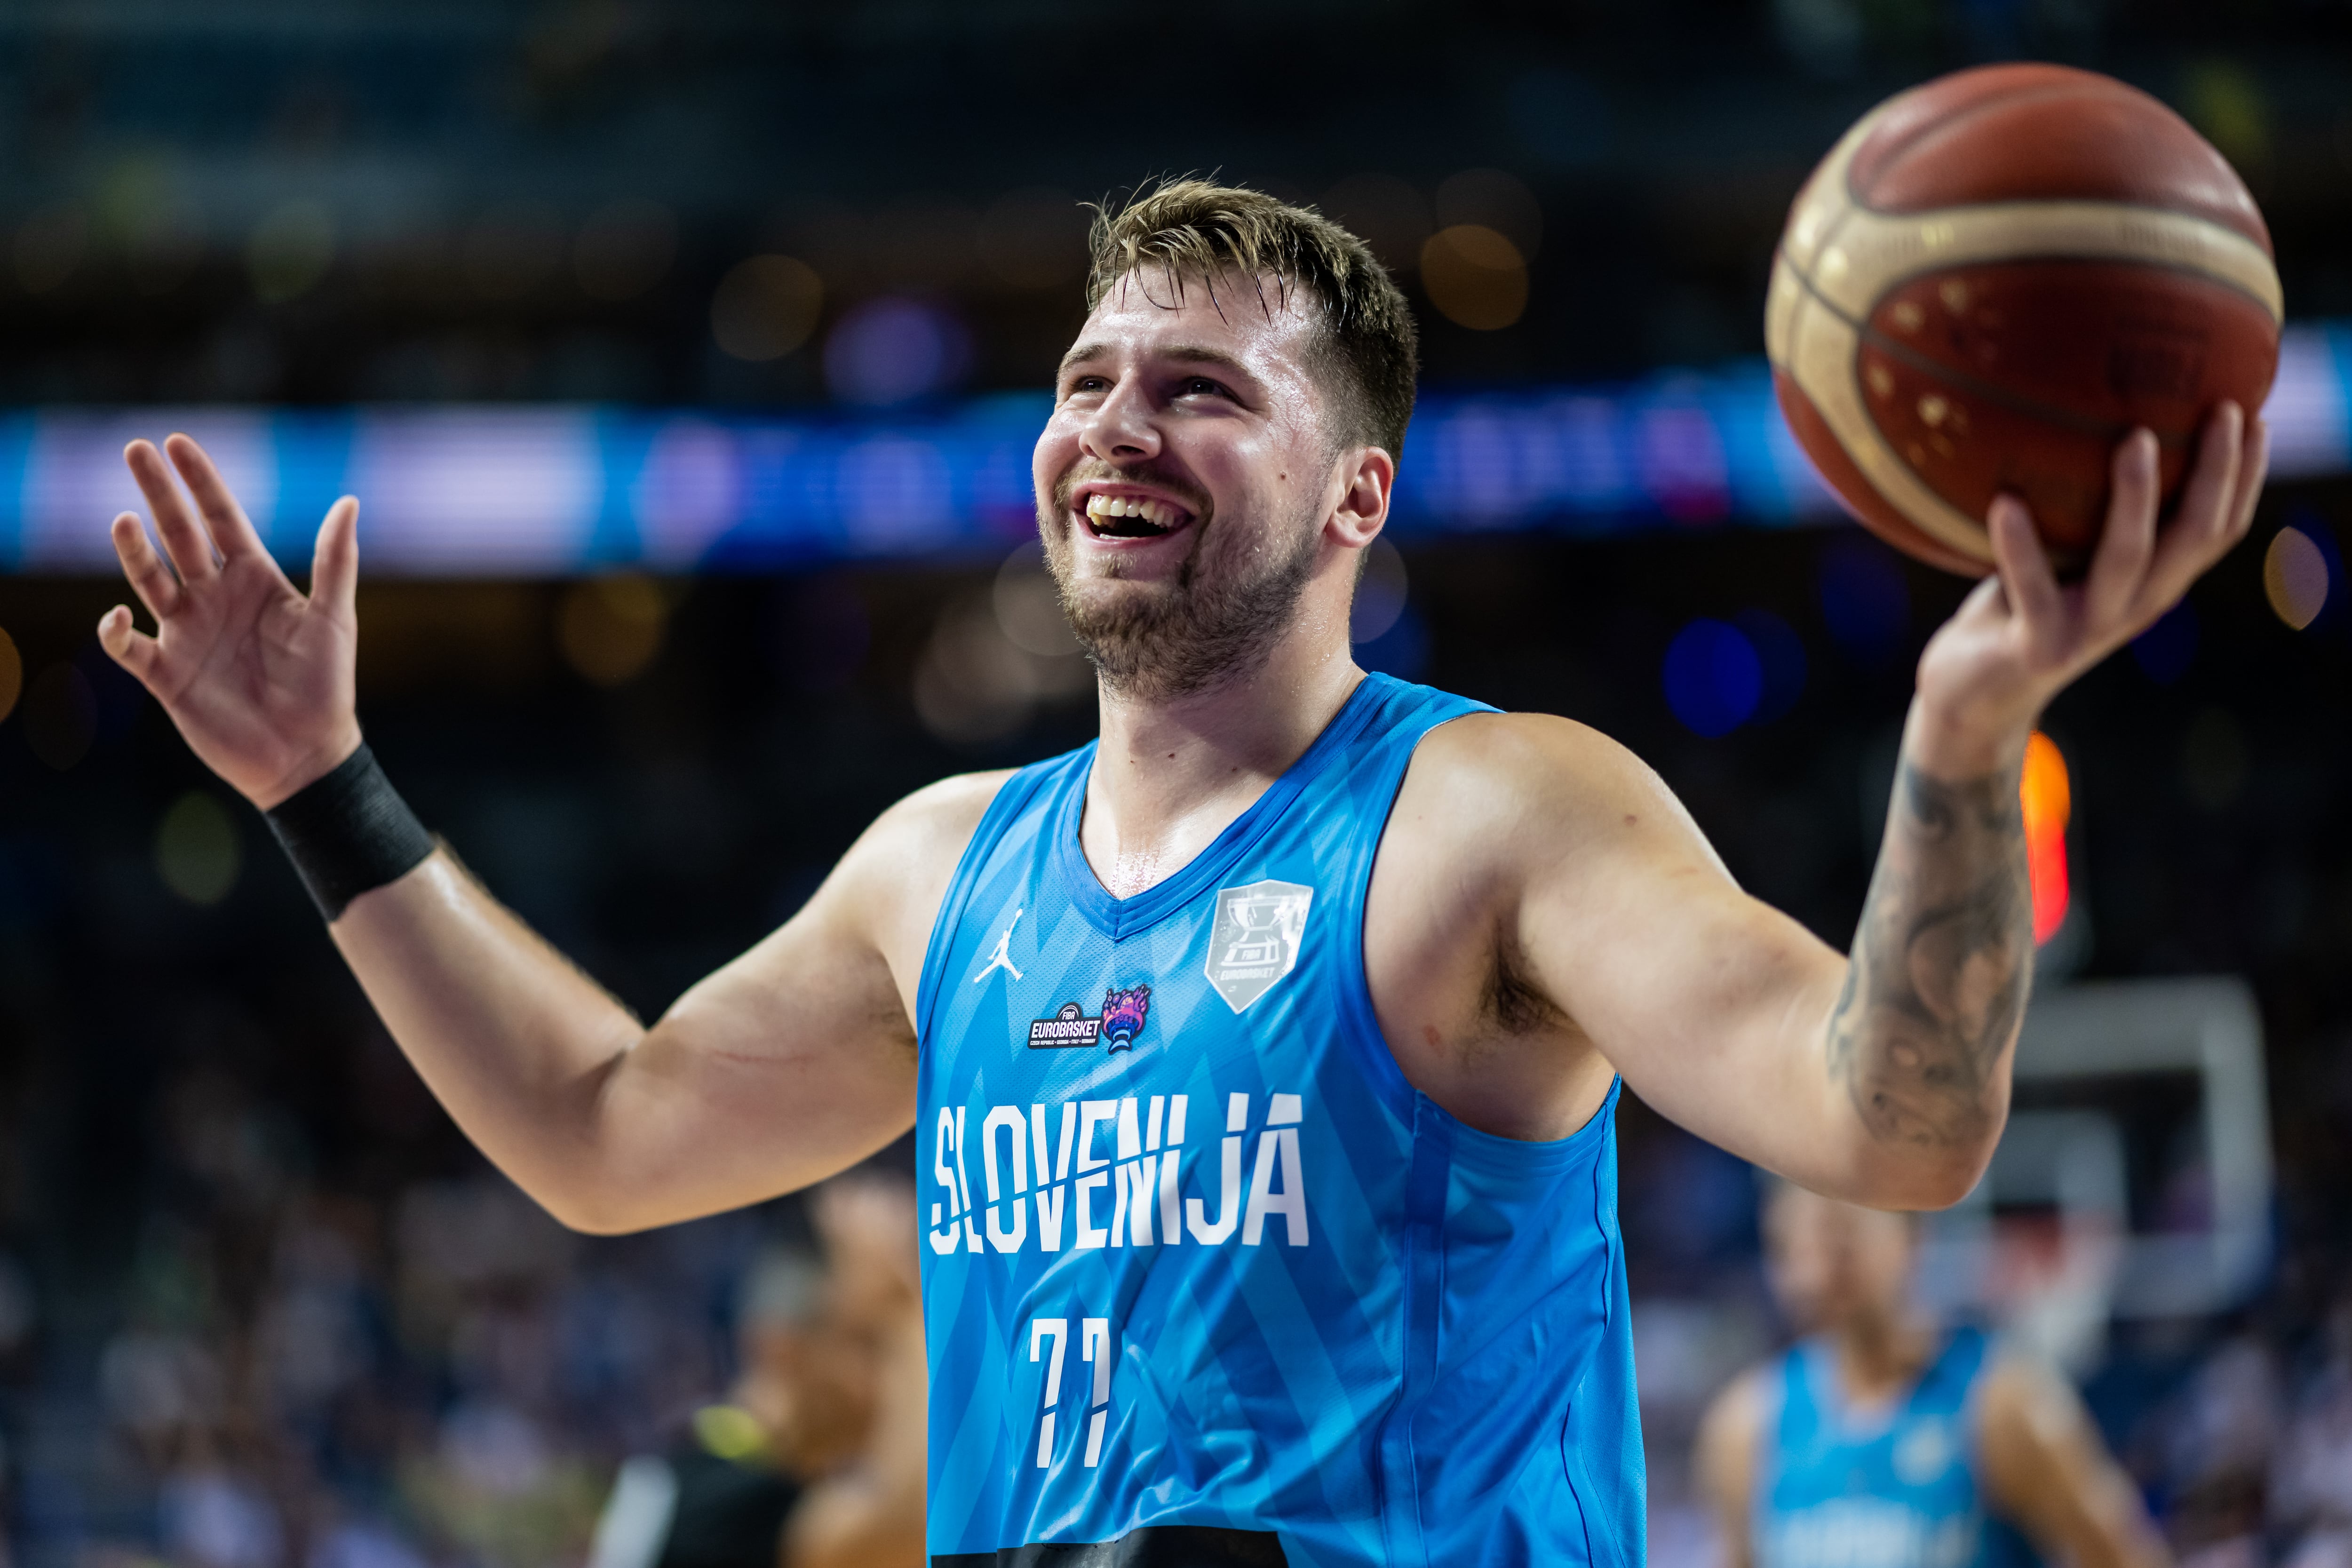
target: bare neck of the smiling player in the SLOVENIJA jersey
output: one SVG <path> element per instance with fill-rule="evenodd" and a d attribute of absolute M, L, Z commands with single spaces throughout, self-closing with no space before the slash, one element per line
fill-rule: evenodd
<path fill-rule="evenodd" d="M 1103 691 L 1080 846 L 1115 898 L 1167 882 L 1324 731 L 1364 672 L 1348 639 L 1294 628 L 1254 672 L 1209 691 Z"/>

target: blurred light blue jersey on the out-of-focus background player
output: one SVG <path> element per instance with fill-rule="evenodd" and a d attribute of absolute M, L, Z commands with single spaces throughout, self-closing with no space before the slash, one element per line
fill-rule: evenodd
<path fill-rule="evenodd" d="M 1959 1328 L 1891 1410 L 1837 1392 L 1837 1349 L 1780 1361 L 1780 1418 L 1759 1446 L 1757 1568 L 1983 1568 L 1976 1385 L 1985 1335 Z"/>

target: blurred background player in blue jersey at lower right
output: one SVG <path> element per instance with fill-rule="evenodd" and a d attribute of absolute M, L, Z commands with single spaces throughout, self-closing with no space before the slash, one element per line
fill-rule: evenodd
<path fill-rule="evenodd" d="M 1919 1222 L 1773 1182 L 1764 1258 L 1811 1338 L 1717 1396 L 1698 1479 L 1729 1568 L 1976 1568 L 1987 1516 L 2051 1563 L 2161 1568 L 2065 1380 L 1910 1302 Z"/>

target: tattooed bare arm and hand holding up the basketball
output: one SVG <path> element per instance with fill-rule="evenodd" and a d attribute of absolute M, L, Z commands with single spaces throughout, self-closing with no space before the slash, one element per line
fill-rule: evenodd
<path fill-rule="evenodd" d="M 2223 404 L 2159 531 L 2157 442 L 2133 433 L 2079 583 L 2056 578 L 2023 503 L 1994 503 L 1999 567 L 1919 658 L 1846 961 L 1740 893 L 1663 783 L 1590 731 L 1536 743 L 1573 780 L 1534 795 L 1505 851 L 1505 950 L 1635 1093 L 1703 1138 L 1830 1197 L 1959 1201 L 2006 1119 L 2032 980 L 2025 741 L 2246 534 L 2265 454 L 2263 425 L 2249 435 Z"/>

